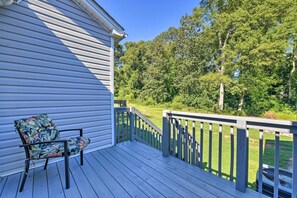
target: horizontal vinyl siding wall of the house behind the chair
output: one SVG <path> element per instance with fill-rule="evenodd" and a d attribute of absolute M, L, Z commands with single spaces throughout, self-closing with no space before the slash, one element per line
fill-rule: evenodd
<path fill-rule="evenodd" d="M 83 128 L 89 151 L 112 145 L 111 54 L 110 33 L 71 0 L 0 8 L 0 176 L 23 170 L 16 119 L 47 113 Z"/>

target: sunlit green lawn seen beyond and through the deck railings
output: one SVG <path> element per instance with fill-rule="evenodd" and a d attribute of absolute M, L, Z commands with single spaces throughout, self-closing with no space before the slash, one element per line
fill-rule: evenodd
<path fill-rule="evenodd" d="M 143 106 L 139 104 L 128 103 L 128 106 L 137 108 L 141 113 L 147 116 L 153 123 L 158 127 L 162 128 L 162 111 L 166 107 L 162 106 Z M 192 123 L 189 122 L 189 126 Z M 197 129 L 200 124 L 196 123 Z M 190 128 L 190 127 L 189 127 Z M 213 125 L 213 144 L 212 144 L 212 169 L 216 173 L 218 170 L 218 142 L 219 133 L 218 125 Z M 208 169 L 208 152 L 209 152 L 209 124 L 204 126 L 204 146 L 203 146 L 203 162 L 205 164 L 205 169 Z M 189 130 L 191 133 L 191 129 Z M 236 133 L 235 133 L 236 134 Z M 196 130 L 196 139 L 198 142 L 200 137 L 200 131 Z M 274 134 L 265 132 L 264 133 L 264 154 L 263 161 L 264 164 L 274 165 Z M 236 151 L 236 136 L 235 136 L 235 151 Z M 223 127 L 223 159 L 222 159 L 222 173 L 223 177 L 229 178 L 230 174 L 230 127 Z M 290 164 L 290 158 L 292 157 L 292 138 L 287 136 L 280 137 L 280 167 L 287 169 Z M 236 158 L 236 153 L 235 153 Z M 236 159 L 235 164 L 236 165 Z M 259 132 L 256 130 L 249 131 L 249 186 L 251 188 L 255 187 L 256 182 L 256 172 L 259 167 Z M 234 171 L 234 176 L 235 175 Z"/>

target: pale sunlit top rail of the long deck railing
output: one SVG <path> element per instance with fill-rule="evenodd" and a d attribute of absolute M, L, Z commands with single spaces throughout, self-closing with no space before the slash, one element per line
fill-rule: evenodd
<path fill-rule="evenodd" d="M 211 122 L 214 124 L 236 126 L 238 120 L 246 121 L 248 128 L 279 131 L 297 134 L 297 122 L 287 120 L 273 120 L 256 117 L 226 116 L 217 114 L 189 113 L 179 111 L 164 111 L 172 118 Z"/>

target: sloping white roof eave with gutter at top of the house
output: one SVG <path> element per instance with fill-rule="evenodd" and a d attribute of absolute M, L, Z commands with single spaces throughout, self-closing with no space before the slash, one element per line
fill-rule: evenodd
<path fill-rule="evenodd" d="M 101 24 L 115 39 L 127 37 L 125 29 L 112 18 L 95 0 L 73 0 L 95 21 Z"/>

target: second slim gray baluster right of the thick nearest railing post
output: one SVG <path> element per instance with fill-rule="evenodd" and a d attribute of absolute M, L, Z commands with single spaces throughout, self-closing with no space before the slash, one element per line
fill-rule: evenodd
<path fill-rule="evenodd" d="M 274 190 L 273 190 L 274 198 L 278 198 L 278 185 L 279 185 L 279 132 L 275 132 Z"/>

